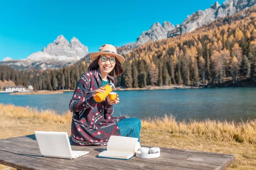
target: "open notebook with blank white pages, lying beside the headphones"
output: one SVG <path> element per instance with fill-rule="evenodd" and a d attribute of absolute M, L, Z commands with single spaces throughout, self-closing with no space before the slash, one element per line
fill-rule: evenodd
<path fill-rule="evenodd" d="M 125 136 L 110 136 L 107 150 L 99 153 L 99 157 L 114 159 L 130 159 L 140 148 L 138 138 Z"/>

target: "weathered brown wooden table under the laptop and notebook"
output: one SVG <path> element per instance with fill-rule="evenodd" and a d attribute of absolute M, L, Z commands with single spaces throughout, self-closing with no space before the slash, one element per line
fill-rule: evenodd
<path fill-rule="evenodd" d="M 199 152 L 172 148 L 160 148 L 160 157 L 129 160 L 96 157 L 103 148 L 99 146 L 71 146 L 72 150 L 90 151 L 76 159 L 57 159 L 41 156 L 35 135 L 0 140 L 0 164 L 20 170 L 224 170 L 235 160 L 235 156 L 222 153 Z M 144 146 L 147 147 L 147 146 Z"/>

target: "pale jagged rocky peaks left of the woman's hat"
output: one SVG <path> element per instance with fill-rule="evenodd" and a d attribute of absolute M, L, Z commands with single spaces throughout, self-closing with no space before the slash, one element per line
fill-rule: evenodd
<path fill-rule="evenodd" d="M 9 65 L 16 70 L 46 70 L 66 67 L 73 64 L 88 54 L 87 46 L 83 45 L 76 37 L 69 41 L 60 35 L 42 51 L 29 55 L 26 59 L 12 60 L 10 57 L 3 59 L 1 65 Z"/>

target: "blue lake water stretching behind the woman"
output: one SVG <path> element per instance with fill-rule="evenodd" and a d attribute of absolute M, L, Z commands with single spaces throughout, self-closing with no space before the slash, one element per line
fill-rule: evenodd
<path fill-rule="evenodd" d="M 221 119 L 236 122 L 256 119 L 256 88 L 205 88 L 116 91 L 120 102 L 113 116 L 147 118 L 172 114 L 177 120 Z M 73 92 L 49 95 L 0 93 L 0 103 L 68 111 Z"/>

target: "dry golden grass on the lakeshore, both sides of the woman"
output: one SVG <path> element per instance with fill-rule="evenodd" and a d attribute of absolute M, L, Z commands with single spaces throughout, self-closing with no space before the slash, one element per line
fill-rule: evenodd
<path fill-rule="evenodd" d="M 34 130 L 66 131 L 70 135 L 72 113 L 38 111 L 0 104 L 0 139 L 33 134 Z M 18 127 L 18 128 L 17 128 Z M 256 121 L 176 122 L 172 116 L 142 120 L 143 145 L 230 153 L 236 156 L 227 170 L 255 170 Z M 8 168 L 0 165 L 0 169 Z"/>

